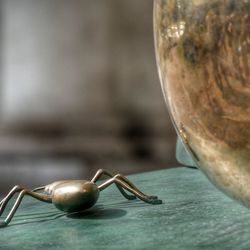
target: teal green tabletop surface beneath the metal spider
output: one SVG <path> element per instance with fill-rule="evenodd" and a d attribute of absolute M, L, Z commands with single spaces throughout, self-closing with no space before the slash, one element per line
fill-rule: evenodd
<path fill-rule="evenodd" d="M 199 170 L 180 167 L 129 179 L 164 204 L 127 201 L 114 186 L 91 210 L 66 215 L 27 197 L 0 229 L 0 249 L 250 249 L 250 210 Z"/>

